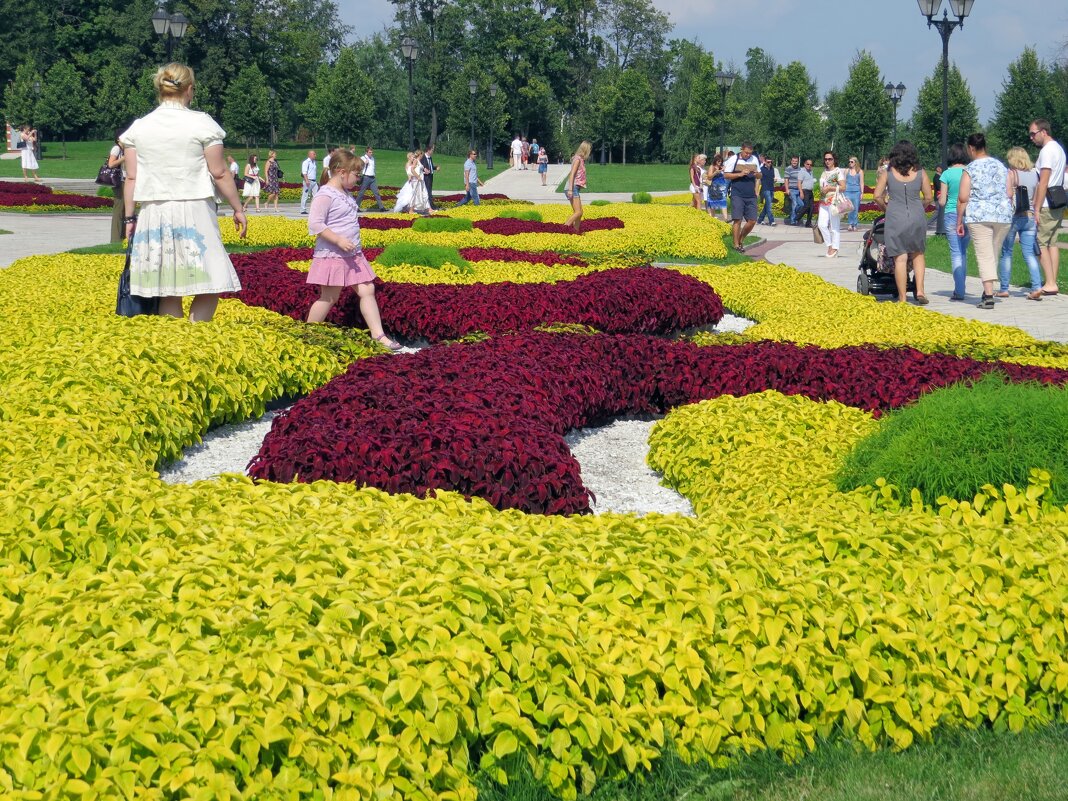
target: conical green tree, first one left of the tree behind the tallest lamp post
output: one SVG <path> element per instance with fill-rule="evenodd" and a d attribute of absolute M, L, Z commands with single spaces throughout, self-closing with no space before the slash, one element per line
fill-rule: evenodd
<path fill-rule="evenodd" d="M 894 108 L 883 87 L 879 65 L 862 50 L 849 67 L 842 92 L 828 98 L 835 146 L 843 152 L 860 150 L 865 162 L 867 154 L 885 144 L 892 134 Z"/>

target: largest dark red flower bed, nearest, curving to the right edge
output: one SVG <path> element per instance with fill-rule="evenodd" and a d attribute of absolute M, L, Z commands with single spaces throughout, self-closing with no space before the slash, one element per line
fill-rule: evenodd
<path fill-rule="evenodd" d="M 451 489 L 498 508 L 583 513 L 591 496 L 564 441 L 568 429 L 768 389 L 879 411 L 992 370 L 1015 381 L 1068 382 L 1068 371 L 908 348 L 502 336 L 354 363 L 274 420 L 250 474 L 420 497 Z"/>

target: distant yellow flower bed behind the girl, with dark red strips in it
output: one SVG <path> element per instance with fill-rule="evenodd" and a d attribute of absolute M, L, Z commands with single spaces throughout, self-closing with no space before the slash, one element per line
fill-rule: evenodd
<path fill-rule="evenodd" d="M 519 206 L 515 206 L 519 208 Z M 449 217 L 486 220 L 497 217 L 509 206 L 462 206 L 447 213 Z M 539 206 L 544 222 L 563 223 L 570 215 L 564 205 Z M 376 215 L 382 218 L 413 219 L 411 215 Z M 447 248 L 512 248 L 514 250 L 552 250 L 560 253 L 619 253 L 627 255 L 659 255 L 671 258 L 723 258 L 726 248 L 722 237 L 728 233 L 720 220 L 692 208 L 658 208 L 650 214 L 647 207 L 633 203 L 615 203 L 607 206 L 588 206 L 586 219 L 617 217 L 625 227 L 614 231 L 591 231 L 581 236 L 569 234 L 516 234 L 502 236 L 481 231 L 458 233 L 421 234 L 410 229 L 380 231 L 362 229 L 364 248 L 386 247 L 398 241 L 418 241 Z M 223 241 L 238 244 L 232 222 L 220 222 Z M 307 220 L 282 217 L 254 217 L 249 220 L 248 245 L 310 247 L 314 237 L 308 234 Z"/>

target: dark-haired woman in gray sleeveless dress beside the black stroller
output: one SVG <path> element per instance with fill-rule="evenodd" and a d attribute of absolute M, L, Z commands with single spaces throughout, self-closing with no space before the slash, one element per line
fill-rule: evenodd
<path fill-rule="evenodd" d="M 875 187 L 875 202 L 886 209 L 883 223 L 883 241 L 886 253 L 894 260 L 894 280 L 897 299 L 905 302 L 909 285 L 909 261 L 916 280 L 915 299 L 927 305 L 924 295 L 924 270 L 927 262 L 927 213 L 924 207 L 931 202 L 930 179 L 920 167 L 920 155 L 912 142 L 905 140 L 890 152 L 890 167 L 879 173 Z"/>

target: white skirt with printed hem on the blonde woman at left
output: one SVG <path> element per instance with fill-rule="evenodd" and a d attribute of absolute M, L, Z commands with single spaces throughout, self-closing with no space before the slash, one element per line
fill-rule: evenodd
<path fill-rule="evenodd" d="M 130 250 L 130 293 L 144 298 L 239 292 L 210 198 L 141 204 Z"/>

